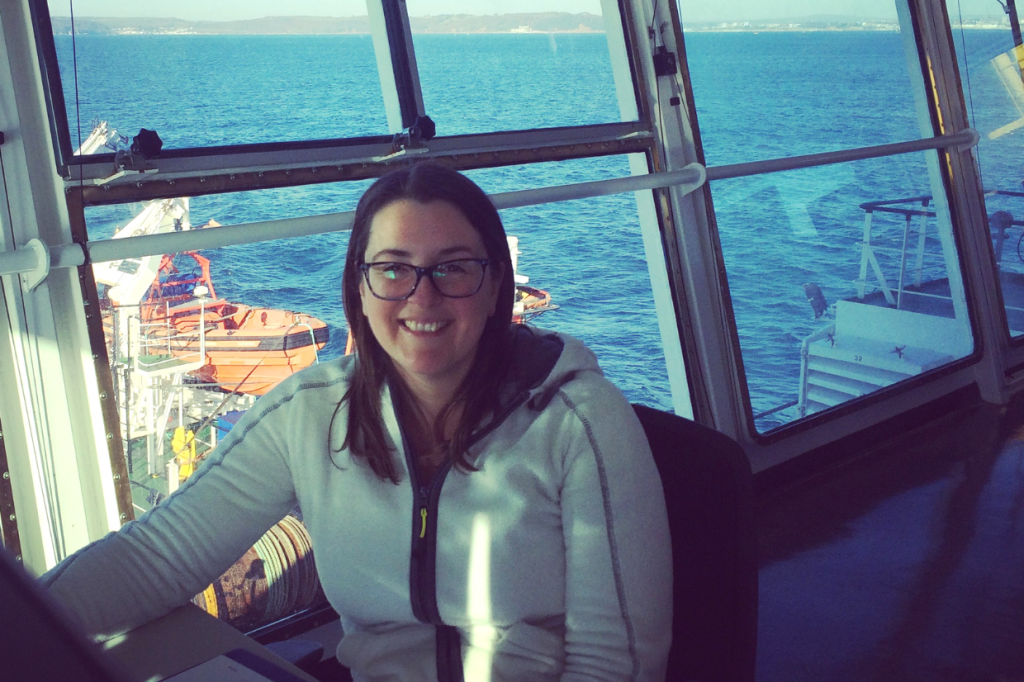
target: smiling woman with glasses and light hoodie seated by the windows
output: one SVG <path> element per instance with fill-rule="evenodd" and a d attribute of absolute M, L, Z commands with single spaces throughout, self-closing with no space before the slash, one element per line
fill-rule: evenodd
<path fill-rule="evenodd" d="M 92 631 L 131 628 L 298 504 L 357 680 L 664 679 L 670 541 L 643 431 L 580 342 L 510 330 L 512 275 L 470 180 L 382 177 L 343 275 L 357 353 L 268 392 L 47 585 Z"/>

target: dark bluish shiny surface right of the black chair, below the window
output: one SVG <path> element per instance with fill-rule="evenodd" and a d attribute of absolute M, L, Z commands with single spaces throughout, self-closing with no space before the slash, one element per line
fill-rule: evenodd
<path fill-rule="evenodd" d="M 1024 401 L 757 483 L 759 682 L 1024 680 Z"/>

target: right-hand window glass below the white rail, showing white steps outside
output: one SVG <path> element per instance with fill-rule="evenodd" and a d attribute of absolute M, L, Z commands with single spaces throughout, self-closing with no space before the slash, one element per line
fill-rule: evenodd
<path fill-rule="evenodd" d="M 713 183 L 760 431 L 972 351 L 928 178 L 912 155 Z"/>

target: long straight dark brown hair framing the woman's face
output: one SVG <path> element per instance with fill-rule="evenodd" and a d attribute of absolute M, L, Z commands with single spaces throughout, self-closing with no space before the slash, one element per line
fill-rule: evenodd
<path fill-rule="evenodd" d="M 335 414 L 348 403 L 348 428 L 342 449 L 348 447 L 353 457 L 366 458 L 374 473 L 393 483 L 399 481 L 398 467 L 384 432 L 381 392 L 387 381 L 392 394 L 398 393 L 396 398 L 408 399 L 408 394 L 391 358 L 377 343 L 362 314 L 359 266 L 367 252 L 374 216 L 384 207 L 403 199 L 421 204 L 447 202 L 459 209 L 479 233 L 487 251 L 492 274 L 501 272 L 495 314 L 484 324 L 473 365 L 452 402 L 433 425 L 438 441 L 442 441 L 445 419 L 456 406 L 462 406 L 461 419 L 445 444 L 452 464 L 466 471 L 474 468 L 468 459 L 466 443 L 483 418 L 498 408 L 499 387 L 510 364 L 510 325 L 515 296 L 512 260 L 502 219 L 483 190 L 465 175 L 436 163 L 420 163 L 384 175 L 359 199 L 341 285 L 345 317 L 355 340 L 355 369 L 352 383 Z"/>

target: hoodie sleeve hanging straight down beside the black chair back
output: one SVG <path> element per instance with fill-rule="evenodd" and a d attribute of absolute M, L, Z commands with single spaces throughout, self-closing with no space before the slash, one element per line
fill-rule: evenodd
<path fill-rule="evenodd" d="M 660 478 L 625 396 L 596 375 L 563 387 L 563 682 L 665 679 L 672 549 Z"/>

